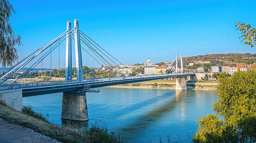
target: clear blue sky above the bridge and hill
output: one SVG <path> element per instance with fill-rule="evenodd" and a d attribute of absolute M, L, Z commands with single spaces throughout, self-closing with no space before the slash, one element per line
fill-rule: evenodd
<path fill-rule="evenodd" d="M 256 5 L 255 1 L 10 0 L 10 3 L 16 12 L 11 25 L 23 42 L 23 46 L 16 48 L 23 58 L 28 49 L 33 51 L 64 32 L 66 21 L 72 21 L 73 25 L 75 18 L 80 30 L 124 64 L 145 63 L 148 57 L 153 63 L 172 61 L 177 52 L 185 57 L 256 51 L 256 47 L 240 43 L 239 33 L 235 35 L 235 22 L 256 28 L 255 10 L 249 10 Z M 111 32 L 101 35 L 99 31 L 104 29 Z M 53 59 L 58 61 L 58 53 L 54 55 Z M 65 67 L 65 46 L 61 47 L 61 59 L 60 67 Z M 47 60 L 44 67 L 50 68 Z M 53 63 L 54 67 L 58 63 Z"/>

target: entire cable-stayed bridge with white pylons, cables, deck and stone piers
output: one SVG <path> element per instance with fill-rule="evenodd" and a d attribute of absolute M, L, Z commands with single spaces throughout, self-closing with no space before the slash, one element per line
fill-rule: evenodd
<path fill-rule="evenodd" d="M 72 72 L 72 40 L 75 41 L 76 80 L 72 79 L 74 76 L 74 72 Z M 40 66 L 40 63 L 42 66 L 45 58 L 50 58 L 52 67 L 52 52 L 54 49 L 59 49 L 58 56 L 60 65 L 60 44 L 64 41 L 66 41 L 65 80 L 24 83 L 22 79 L 26 78 L 32 69 Z M 85 45 L 84 47 L 83 44 Z M 86 52 L 87 57 L 83 60 L 86 61 L 87 68 L 84 68 L 82 64 L 82 51 Z M 92 72 L 92 60 L 94 69 L 97 68 L 97 71 L 94 70 Z M 92 66 L 91 69 L 90 63 Z M 28 65 L 29 68 L 26 71 L 20 72 L 23 67 Z M 107 70 L 99 70 L 102 69 L 102 67 Z M 177 57 L 161 74 L 141 75 L 122 64 L 84 34 L 84 32 L 79 30 L 78 20 L 74 19 L 74 28 L 72 28 L 71 22 L 67 21 L 67 30 L 65 32 L 38 48 L 28 57 L 1 74 L 0 80 L 3 81 L 0 85 L 0 91 L 4 96 L 18 94 L 17 97 L 21 95 L 21 98 L 63 92 L 62 118 L 88 120 L 86 92 L 99 92 L 99 90 L 92 88 L 176 78 L 176 89 L 186 89 L 184 77 L 195 75 L 194 73 L 188 72 L 186 67 L 188 66 L 185 65 L 182 55 L 178 57 L 177 54 Z M 104 74 L 102 74 L 102 71 Z M 14 80 L 13 76 L 15 76 Z M 12 83 L 5 84 L 8 80 L 11 80 Z M 15 95 L 12 96 L 12 98 L 15 98 Z"/>

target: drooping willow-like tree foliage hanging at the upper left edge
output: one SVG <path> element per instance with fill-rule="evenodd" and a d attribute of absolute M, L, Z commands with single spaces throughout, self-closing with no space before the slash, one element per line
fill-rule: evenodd
<path fill-rule="evenodd" d="M 15 11 L 8 0 L 0 0 L 0 63 L 3 67 L 12 66 L 18 59 L 15 45 L 22 45 L 20 35 L 15 35 L 10 22 L 10 17 Z"/>

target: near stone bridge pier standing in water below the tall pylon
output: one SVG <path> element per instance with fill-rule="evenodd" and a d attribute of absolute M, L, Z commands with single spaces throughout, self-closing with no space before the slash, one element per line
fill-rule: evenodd
<path fill-rule="evenodd" d="M 86 92 L 63 92 L 61 118 L 88 120 Z"/>

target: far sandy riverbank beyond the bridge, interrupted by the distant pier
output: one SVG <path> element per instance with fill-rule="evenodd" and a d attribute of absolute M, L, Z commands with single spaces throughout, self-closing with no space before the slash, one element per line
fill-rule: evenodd
<path fill-rule="evenodd" d="M 120 84 L 108 87 L 115 88 L 150 88 L 150 89 L 175 89 L 176 80 L 152 80 L 130 84 Z M 186 81 L 188 90 L 217 90 L 218 81 L 199 80 Z"/>

